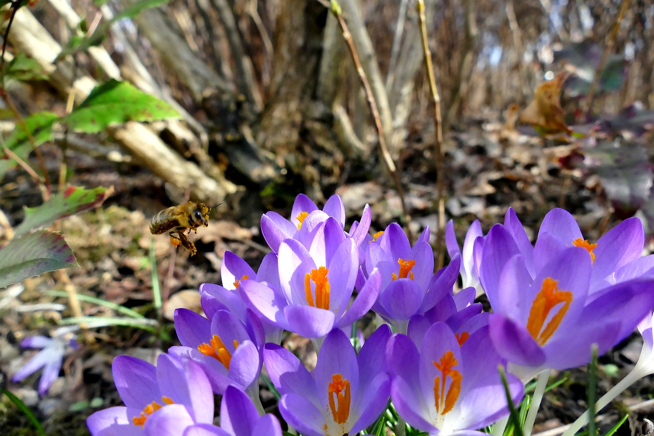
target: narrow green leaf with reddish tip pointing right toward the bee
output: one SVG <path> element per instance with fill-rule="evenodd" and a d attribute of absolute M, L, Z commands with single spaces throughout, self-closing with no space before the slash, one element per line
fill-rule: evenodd
<path fill-rule="evenodd" d="M 54 221 L 95 208 L 114 193 L 113 187 L 86 189 L 71 186 L 36 208 L 25 208 L 25 220 L 16 228 L 16 236 L 48 226 Z"/>

